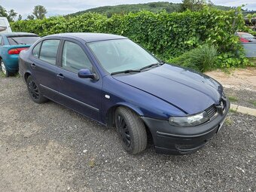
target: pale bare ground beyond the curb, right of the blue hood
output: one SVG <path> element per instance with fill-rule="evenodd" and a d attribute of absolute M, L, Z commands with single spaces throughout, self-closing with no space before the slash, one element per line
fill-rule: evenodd
<path fill-rule="evenodd" d="M 230 102 L 236 105 L 242 105 L 248 108 L 256 108 L 256 90 L 235 90 L 224 88 L 227 97 L 230 97 Z"/>

